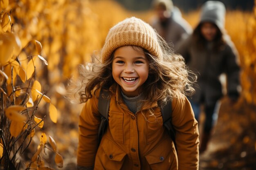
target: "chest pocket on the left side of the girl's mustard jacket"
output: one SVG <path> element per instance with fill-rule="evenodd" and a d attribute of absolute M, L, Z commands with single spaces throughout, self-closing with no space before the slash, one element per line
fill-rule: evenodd
<path fill-rule="evenodd" d="M 113 139 L 124 144 L 124 113 L 109 112 L 108 124 Z"/>

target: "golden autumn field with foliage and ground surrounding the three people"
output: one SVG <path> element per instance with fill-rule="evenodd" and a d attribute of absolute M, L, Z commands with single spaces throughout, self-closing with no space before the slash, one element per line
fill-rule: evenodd
<path fill-rule="evenodd" d="M 74 169 L 82 104 L 65 98 L 67 84 L 130 16 L 149 22 L 153 11 L 111 0 L 0 0 L 0 170 Z M 195 26 L 199 11 L 183 17 Z M 200 168 L 255 170 L 256 7 L 227 11 L 226 30 L 240 55 L 242 92 L 234 105 L 222 99 Z"/>

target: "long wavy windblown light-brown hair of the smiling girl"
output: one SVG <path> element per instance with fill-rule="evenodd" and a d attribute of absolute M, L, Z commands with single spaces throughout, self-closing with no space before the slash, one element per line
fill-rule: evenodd
<path fill-rule="evenodd" d="M 184 58 L 175 54 L 158 34 L 157 39 L 163 52 L 161 59 L 143 49 L 148 58 L 149 74 L 140 93 L 144 96 L 143 106 L 149 108 L 155 101 L 164 105 L 168 100 L 179 98 L 181 94 L 192 95 L 194 93 L 192 84 L 197 79 L 196 75 L 186 68 Z M 110 86 L 116 83 L 112 77 L 114 53 L 103 64 L 94 62 L 80 65 L 80 77 L 76 82 L 71 80 L 69 96 L 72 95 L 75 101 L 82 103 L 92 98 L 100 88 L 108 91 Z M 152 111 L 150 112 L 153 113 Z"/>

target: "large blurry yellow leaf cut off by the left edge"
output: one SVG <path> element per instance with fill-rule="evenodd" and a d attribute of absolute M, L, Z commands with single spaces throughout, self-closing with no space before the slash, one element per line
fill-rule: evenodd
<path fill-rule="evenodd" d="M 0 34 L 0 65 L 4 65 L 10 60 L 14 46 L 16 46 L 16 40 L 12 33 Z"/>

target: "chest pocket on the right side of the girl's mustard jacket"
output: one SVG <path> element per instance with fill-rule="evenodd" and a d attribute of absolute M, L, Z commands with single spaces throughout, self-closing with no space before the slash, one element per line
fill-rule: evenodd
<path fill-rule="evenodd" d="M 147 117 L 147 144 L 152 143 L 164 132 L 162 115 L 153 115 Z M 162 131 L 161 131 L 162 129 Z"/>

